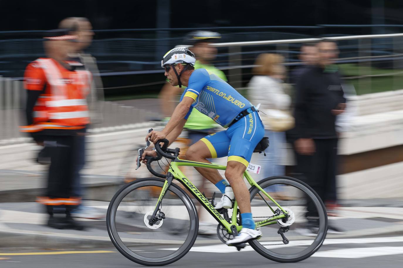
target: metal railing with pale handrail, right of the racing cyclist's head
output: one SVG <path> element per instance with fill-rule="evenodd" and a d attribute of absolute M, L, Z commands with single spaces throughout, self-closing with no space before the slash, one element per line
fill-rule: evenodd
<path fill-rule="evenodd" d="M 326 37 L 339 43 L 341 70 L 346 69 L 345 78 L 354 84 L 358 94 L 397 90 L 403 88 L 403 33 L 382 35 L 351 35 Z M 299 49 L 303 43 L 318 42 L 322 38 L 229 42 L 213 44 L 227 49 L 229 83 L 235 88 L 245 86 L 251 77 L 251 68 L 260 53 L 280 53 L 285 56 L 286 65 L 299 65 Z M 351 64 L 346 66 L 343 64 Z M 385 88 L 377 85 L 372 90 L 372 80 L 388 78 Z M 245 79 L 246 78 L 246 79 Z M 372 79 L 373 78 L 373 79 Z M 381 81 L 378 81 L 381 82 Z"/>

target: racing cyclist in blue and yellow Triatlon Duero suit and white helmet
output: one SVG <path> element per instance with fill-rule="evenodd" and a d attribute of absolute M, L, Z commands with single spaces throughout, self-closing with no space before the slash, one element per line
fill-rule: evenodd
<path fill-rule="evenodd" d="M 243 180 L 251 155 L 264 135 L 264 125 L 256 108 L 233 87 L 206 69 L 194 70 L 195 55 L 186 47 L 177 47 L 168 51 L 161 66 L 164 75 L 172 86 L 187 86 L 181 101 L 175 108 L 170 120 L 162 131 L 152 131 L 146 136 L 154 144 L 160 139 L 174 141 L 181 133 L 192 108 L 208 115 L 225 131 L 213 133 L 191 145 L 186 152 L 187 160 L 210 163 L 207 158 L 228 156 L 225 177 L 218 170 L 196 168 L 196 170 L 214 183 L 217 188 L 224 189 L 216 209 L 231 208 L 234 194 L 241 211 L 243 228 L 237 237 L 227 241 L 228 245 L 244 243 L 262 236 L 260 229 L 255 229 L 252 219 L 249 191 Z M 156 152 L 145 151 L 146 155 L 156 156 Z M 231 188 L 232 187 L 232 188 Z"/>

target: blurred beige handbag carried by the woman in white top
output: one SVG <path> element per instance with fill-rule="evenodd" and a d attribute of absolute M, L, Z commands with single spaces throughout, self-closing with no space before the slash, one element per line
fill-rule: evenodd
<path fill-rule="evenodd" d="M 278 109 L 266 109 L 264 110 L 265 121 L 268 124 L 270 130 L 276 132 L 283 132 L 292 129 L 295 125 L 295 119 L 288 111 Z"/>

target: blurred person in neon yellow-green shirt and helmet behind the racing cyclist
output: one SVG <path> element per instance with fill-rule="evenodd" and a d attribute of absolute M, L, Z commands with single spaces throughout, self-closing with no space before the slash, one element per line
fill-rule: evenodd
<path fill-rule="evenodd" d="M 211 72 L 222 80 L 227 81 L 224 72 L 218 70 L 212 63 L 217 56 L 217 48 L 212 46 L 212 43 L 220 38 L 220 33 L 211 31 L 193 31 L 185 36 L 184 43 L 190 46 L 189 49 L 196 56 L 194 66 L 195 70 L 206 69 L 208 72 Z M 160 92 L 160 100 L 161 106 L 166 115 L 172 114 L 174 108 L 176 107 L 176 96 L 182 92 L 183 89 L 178 86 L 171 86 L 168 82 L 164 84 L 164 87 Z M 212 134 L 215 127 L 216 123 L 210 117 L 200 113 L 196 109 L 193 109 L 184 126 L 184 129 L 187 130 L 188 138 L 190 139 L 189 145 L 192 145 L 207 135 Z M 201 178 L 199 190 L 202 192 L 207 192 L 207 190 L 204 189 L 205 181 L 205 178 Z M 222 194 L 224 194 L 224 191 L 225 188 L 222 188 Z M 200 221 L 199 234 L 216 234 L 216 225 Z"/>

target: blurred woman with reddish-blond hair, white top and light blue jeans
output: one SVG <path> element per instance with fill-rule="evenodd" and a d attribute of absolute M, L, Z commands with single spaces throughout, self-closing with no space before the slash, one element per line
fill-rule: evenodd
<path fill-rule="evenodd" d="M 284 57 L 279 54 L 260 54 L 253 68 L 255 76 L 249 82 L 249 100 L 253 105 L 260 103 L 260 117 L 265 125 L 265 136 L 270 146 L 266 156 L 259 154 L 258 164 L 262 166 L 262 178 L 285 175 L 284 160 L 285 132 L 294 126 L 289 111 L 291 97 L 285 94 L 282 83 L 285 78 Z M 267 189 L 273 198 L 284 199 L 281 189 L 274 185 Z"/>

